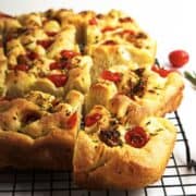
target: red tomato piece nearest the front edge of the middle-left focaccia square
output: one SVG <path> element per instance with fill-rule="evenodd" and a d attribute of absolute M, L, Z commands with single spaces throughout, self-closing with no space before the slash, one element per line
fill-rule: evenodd
<path fill-rule="evenodd" d="M 64 74 L 52 74 L 47 76 L 48 79 L 50 79 L 56 87 L 62 87 L 66 84 L 68 76 Z"/>

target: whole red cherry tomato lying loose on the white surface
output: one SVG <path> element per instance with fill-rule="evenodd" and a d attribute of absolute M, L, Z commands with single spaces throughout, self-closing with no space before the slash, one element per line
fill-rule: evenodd
<path fill-rule="evenodd" d="M 174 68 L 181 68 L 189 60 L 189 56 L 184 50 L 174 50 L 169 53 L 169 60 Z"/>

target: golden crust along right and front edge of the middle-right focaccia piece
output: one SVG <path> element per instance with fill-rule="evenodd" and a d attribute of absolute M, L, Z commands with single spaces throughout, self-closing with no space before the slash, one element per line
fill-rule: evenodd
<path fill-rule="evenodd" d="M 156 96 L 144 97 L 138 102 L 130 105 L 126 117 L 122 119 L 124 122 L 138 123 L 143 118 L 148 115 L 164 117 L 169 112 L 177 109 L 183 97 L 184 84 L 182 76 L 177 73 L 171 73 L 168 82 L 160 94 L 160 98 Z M 147 95 L 148 96 L 148 95 Z M 115 105 L 114 105 L 115 106 Z M 135 118 L 137 117 L 137 118 Z"/>

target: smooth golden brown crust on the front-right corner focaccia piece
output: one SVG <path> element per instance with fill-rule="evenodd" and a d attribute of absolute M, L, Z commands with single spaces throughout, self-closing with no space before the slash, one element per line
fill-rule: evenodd
<path fill-rule="evenodd" d="M 87 188 L 130 189 L 159 180 L 173 150 L 176 131 L 167 120 L 158 121 L 167 130 L 152 136 L 143 148 L 126 144 L 111 148 L 81 131 L 73 161 L 76 183 Z"/>

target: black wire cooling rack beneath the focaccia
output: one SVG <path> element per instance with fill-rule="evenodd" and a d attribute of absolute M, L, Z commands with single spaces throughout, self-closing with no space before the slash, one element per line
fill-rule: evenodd
<path fill-rule="evenodd" d="M 0 171 L 0 196 L 196 196 L 196 164 L 177 112 L 168 115 L 177 128 L 174 151 L 161 180 L 137 191 L 86 191 L 70 171 Z"/>

